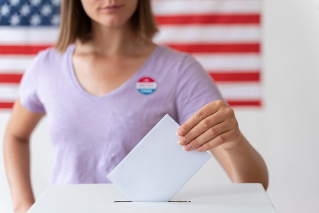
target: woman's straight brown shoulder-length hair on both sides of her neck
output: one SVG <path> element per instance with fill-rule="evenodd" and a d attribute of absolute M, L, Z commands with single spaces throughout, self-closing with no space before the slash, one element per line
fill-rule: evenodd
<path fill-rule="evenodd" d="M 158 32 L 150 0 L 139 0 L 137 9 L 129 21 L 137 38 L 142 36 L 151 40 Z M 81 1 L 61 1 L 60 34 L 56 49 L 63 53 L 68 45 L 77 39 L 83 43 L 89 41 L 92 36 L 91 31 L 91 18 L 85 13 Z"/>

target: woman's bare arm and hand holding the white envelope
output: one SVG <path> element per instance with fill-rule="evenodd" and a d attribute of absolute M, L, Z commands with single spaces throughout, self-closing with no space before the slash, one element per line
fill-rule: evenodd
<path fill-rule="evenodd" d="M 179 127 L 177 134 L 186 151 L 210 150 L 233 182 L 259 182 L 267 189 L 267 167 L 241 134 L 234 111 L 223 100 L 206 104 Z"/>

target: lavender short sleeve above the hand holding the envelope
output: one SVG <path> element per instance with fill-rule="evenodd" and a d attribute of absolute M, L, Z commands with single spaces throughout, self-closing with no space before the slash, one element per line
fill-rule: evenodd
<path fill-rule="evenodd" d="M 182 125 L 205 104 L 219 99 L 224 100 L 214 80 L 193 56 L 186 55 L 176 90 L 179 124 Z"/>

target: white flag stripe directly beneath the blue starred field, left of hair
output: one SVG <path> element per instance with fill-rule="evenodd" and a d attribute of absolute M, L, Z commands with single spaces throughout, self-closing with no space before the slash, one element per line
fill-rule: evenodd
<path fill-rule="evenodd" d="M 59 35 L 58 28 L 0 27 L 0 44 L 53 44 Z"/>

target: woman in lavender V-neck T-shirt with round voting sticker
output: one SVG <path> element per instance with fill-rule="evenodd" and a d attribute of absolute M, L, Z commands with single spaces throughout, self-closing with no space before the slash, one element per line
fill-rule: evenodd
<path fill-rule="evenodd" d="M 62 1 L 60 37 L 25 71 L 4 154 L 15 212 L 33 203 L 30 135 L 47 115 L 52 184 L 110 182 L 109 172 L 168 113 L 185 151 L 210 150 L 234 182 L 268 185 L 261 156 L 190 55 L 156 45 L 148 0 Z"/>

